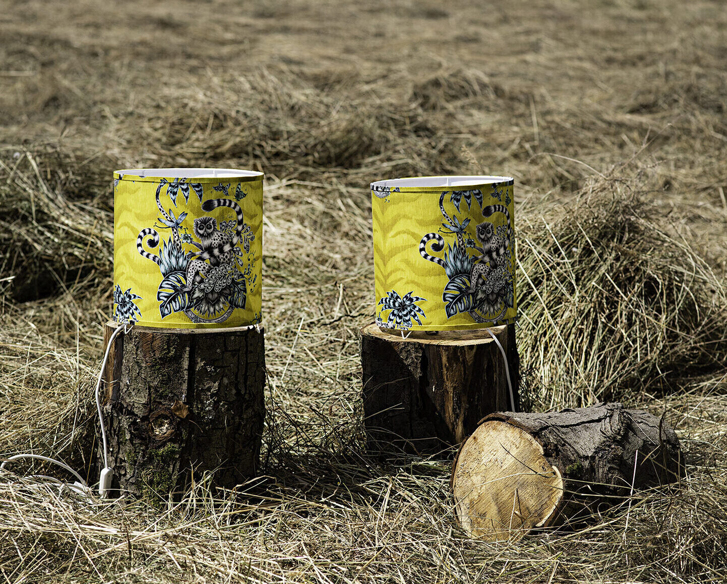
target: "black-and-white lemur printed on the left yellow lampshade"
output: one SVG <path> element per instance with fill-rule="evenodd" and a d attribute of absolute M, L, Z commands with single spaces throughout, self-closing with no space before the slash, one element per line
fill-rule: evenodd
<path fill-rule="evenodd" d="M 233 260 L 233 248 L 238 244 L 244 226 L 242 209 L 233 200 L 210 199 L 202 203 L 202 211 L 213 211 L 217 207 L 230 207 L 237 214 L 237 226 L 234 235 L 217 229 L 217 221 L 213 217 L 198 217 L 194 220 L 194 233 L 200 243 L 192 242 L 199 249 L 195 259 L 187 265 L 187 285 L 185 292 L 199 284 L 209 269 L 220 264 L 230 264 Z M 209 261 L 209 264 L 207 261 Z"/>

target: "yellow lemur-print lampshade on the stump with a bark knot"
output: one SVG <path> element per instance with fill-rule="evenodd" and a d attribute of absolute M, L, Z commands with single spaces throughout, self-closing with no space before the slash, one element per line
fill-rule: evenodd
<path fill-rule="evenodd" d="M 260 323 L 261 172 L 113 173 L 113 320 L 164 328 Z"/>

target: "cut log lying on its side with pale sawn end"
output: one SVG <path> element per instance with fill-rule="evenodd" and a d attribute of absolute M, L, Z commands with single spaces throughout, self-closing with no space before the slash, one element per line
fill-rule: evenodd
<path fill-rule="evenodd" d="M 459 450 L 451 487 L 465 531 L 504 540 L 584 519 L 682 472 L 679 440 L 667 423 L 609 403 L 488 415 Z"/>

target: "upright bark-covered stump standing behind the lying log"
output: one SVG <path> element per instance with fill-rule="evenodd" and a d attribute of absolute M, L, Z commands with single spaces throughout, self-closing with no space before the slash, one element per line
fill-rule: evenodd
<path fill-rule="evenodd" d="M 491 329 L 510 365 L 518 405 L 515 325 Z M 364 424 L 373 450 L 436 453 L 458 445 L 483 415 L 513 408 L 505 362 L 486 330 L 361 329 Z"/>

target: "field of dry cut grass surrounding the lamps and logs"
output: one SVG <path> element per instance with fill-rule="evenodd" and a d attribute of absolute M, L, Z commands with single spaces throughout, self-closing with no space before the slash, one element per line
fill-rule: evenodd
<path fill-rule="evenodd" d="M 268 419 L 239 492 L 120 504 L 0 474 L 0 583 L 727 580 L 721 1 L 2 7 L 0 453 L 94 479 L 113 169 L 265 171 Z M 679 489 L 481 543 L 449 459 L 366 453 L 368 184 L 445 173 L 515 177 L 531 407 L 664 414 Z"/>

